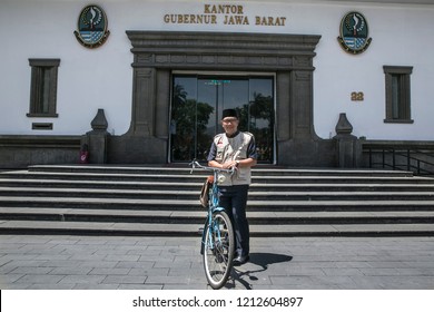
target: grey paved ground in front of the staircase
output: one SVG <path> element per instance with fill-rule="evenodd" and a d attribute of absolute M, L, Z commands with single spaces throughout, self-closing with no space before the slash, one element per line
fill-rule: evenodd
<path fill-rule="evenodd" d="M 0 236 L 0 287 L 207 289 L 200 237 Z M 434 290 L 434 237 L 253 237 L 227 289 Z"/>

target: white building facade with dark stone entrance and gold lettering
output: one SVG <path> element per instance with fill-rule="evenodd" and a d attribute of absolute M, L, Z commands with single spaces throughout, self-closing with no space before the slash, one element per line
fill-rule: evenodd
<path fill-rule="evenodd" d="M 225 108 L 267 165 L 433 146 L 432 0 L 1 0 L 0 25 L 3 168 L 205 159 Z"/>

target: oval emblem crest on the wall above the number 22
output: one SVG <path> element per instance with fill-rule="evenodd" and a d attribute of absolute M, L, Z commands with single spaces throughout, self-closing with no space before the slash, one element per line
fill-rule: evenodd
<path fill-rule="evenodd" d="M 364 52 L 372 41 L 365 17 L 359 12 L 347 13 L 341 21 L 341 37 L 337 40 L 348 53 Z"/>

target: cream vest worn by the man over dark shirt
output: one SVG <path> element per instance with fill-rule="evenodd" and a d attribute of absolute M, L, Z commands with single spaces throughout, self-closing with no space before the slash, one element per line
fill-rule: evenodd
<path fill-rule="evenodd" d="M 248 158 L 247 148 L 251 139 L 251 134 L 241 131 L 233 138 L 228 138 L 226 134 L 216 135 L 214 137 L 214 144 L 217 147 L 215 159 L 224 164 Z M 231 177 L 228 174 L 223 175 L 225 175 L 225 181 L 219 182 L 219 185 L 245 185 L 250 184 L 251 181 L 250 167 L 238 168 Z"/>

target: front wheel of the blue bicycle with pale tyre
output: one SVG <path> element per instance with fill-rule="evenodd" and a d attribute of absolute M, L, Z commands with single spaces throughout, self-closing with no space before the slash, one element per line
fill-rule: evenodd
<path fill-rule="evenodd" d="M 213 215 L 204 244 L 205 274 L 209 285 L 217 290 L 226 284 L 234 260 L 235 234 L 227 213 L 217 212 Z"/>

